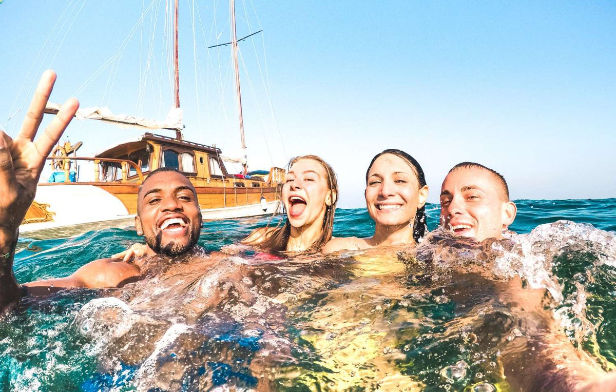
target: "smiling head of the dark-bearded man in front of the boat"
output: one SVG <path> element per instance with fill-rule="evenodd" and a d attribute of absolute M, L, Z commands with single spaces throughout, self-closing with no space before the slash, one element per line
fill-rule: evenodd
<path fill-rule="evenodd" d="M 201 210 L 195 187 L 178 172 L 146 178 L 137 198 L 137 233 L 156 254 L 177 256 L 193 249 L 201 233 Z"/>

